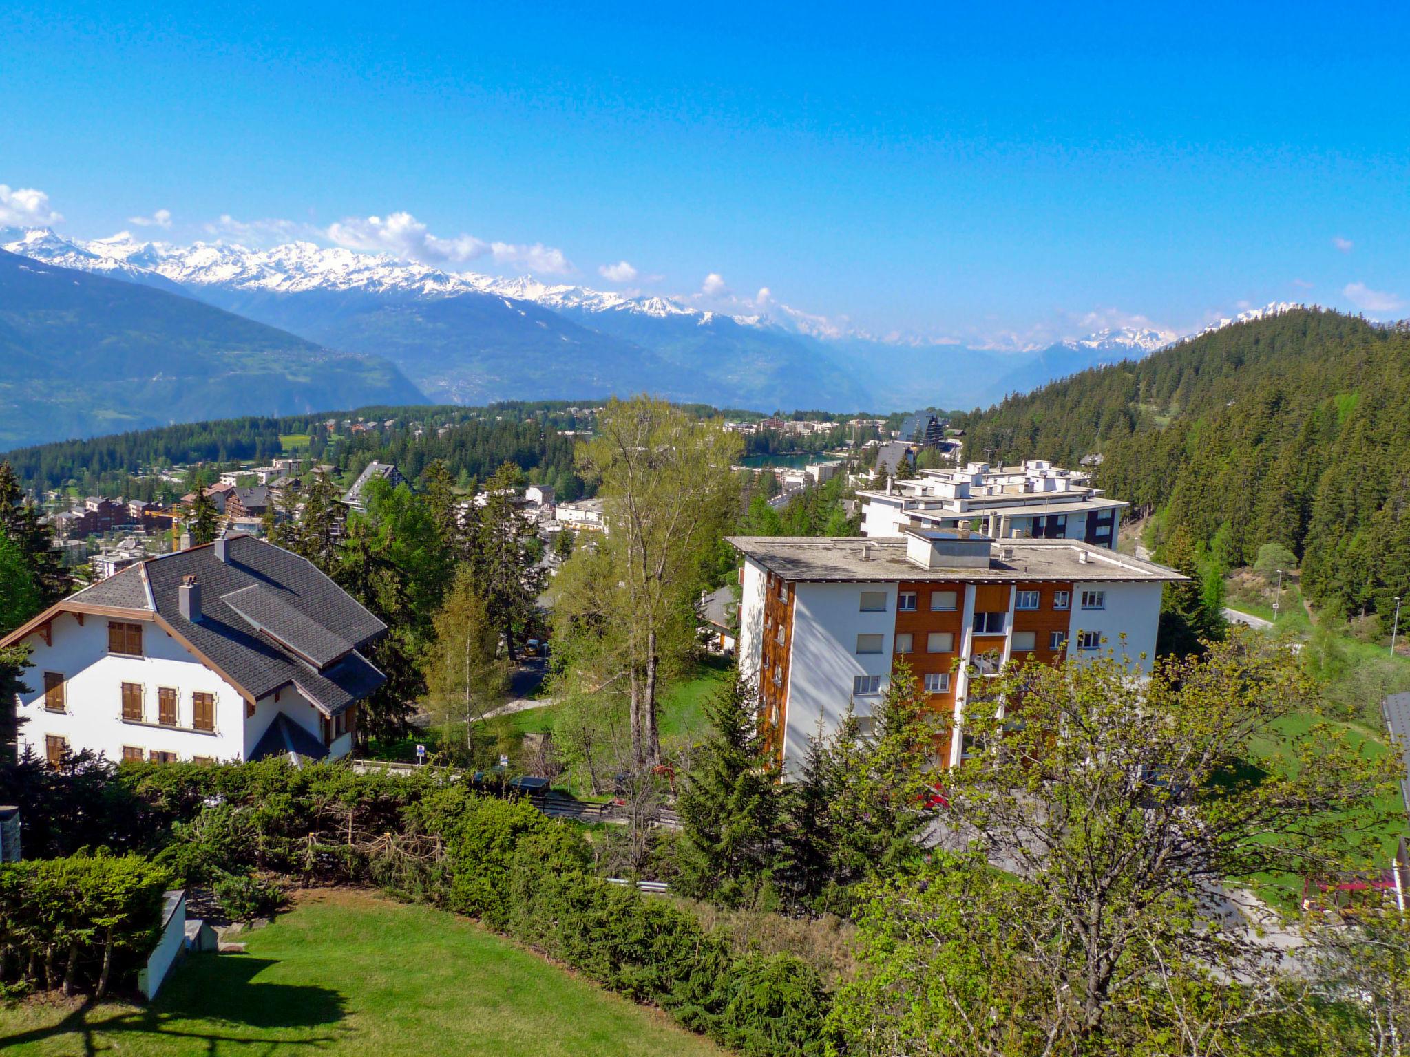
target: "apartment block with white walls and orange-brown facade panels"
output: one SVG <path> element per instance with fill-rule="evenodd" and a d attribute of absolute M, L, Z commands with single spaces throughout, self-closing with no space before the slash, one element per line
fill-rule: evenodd
<path fill-rule="evenodd" d="M 1180 574 L 1080 540 L 904 528 L 883 540 L 732 537 L 743 555 L 739 664 L 785 772 L 849 706 L 866 722 L 904 660 L 960 734 L 974 679 L 1010 660 L 1155 654 L 1160 588 Z"/>

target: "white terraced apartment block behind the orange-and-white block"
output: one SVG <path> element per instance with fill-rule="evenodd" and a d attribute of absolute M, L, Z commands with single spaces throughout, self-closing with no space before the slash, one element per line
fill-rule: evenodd
<path fill-rule="evenodd" d="M 862 533 L 873 540 L 905 528 L 976 527 L 997 540 L 1083 540 L 1114 550 L 1121 510 L 1084 471 L 1043 459 L 1021 466 L 970 462 L 963 469 L 922 469 L 912 481 L 888 481 L 884 490 L 859 492 Z"/>

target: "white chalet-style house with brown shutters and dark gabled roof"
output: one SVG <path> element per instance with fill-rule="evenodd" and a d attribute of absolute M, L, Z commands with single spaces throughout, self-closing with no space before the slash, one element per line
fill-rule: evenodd
<path fill-rule="evenodd" d="M 385 631 L 306 560 L 235 536 L 131 565 L 0 645 L 32 648 L 21 753 L 324 758 L 385 682 L 360 653 Z"/>

